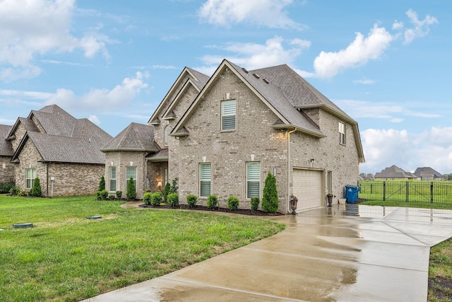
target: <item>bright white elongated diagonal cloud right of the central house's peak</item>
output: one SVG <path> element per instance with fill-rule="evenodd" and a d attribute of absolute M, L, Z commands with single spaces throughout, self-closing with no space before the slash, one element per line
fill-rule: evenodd
<path fill-rule="evenodd" d="M 379 59 L 393 40 L 385 28 L 374 25 L 369 35 L 356 33 L 355 40 L 339 52 L 321 52 L 314 59 L 314 70 L 321 78 L 332 78 L 344 69 L 361 66 L 369 60 Z"/>

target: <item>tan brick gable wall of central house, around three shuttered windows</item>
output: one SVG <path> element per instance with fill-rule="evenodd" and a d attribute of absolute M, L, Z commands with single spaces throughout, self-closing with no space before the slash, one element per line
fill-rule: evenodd
<path fill-rule="evenodd" d="M 220 131 L 220 102 L 226 93 L 237 100 L 233 132 Z M 261 163 L 261 197 L 268 171 L 273 173 L 276 168 L 279 211 L 287 212 L 287 137 L 284 131 L 271 128 L 276 120 L 232 71 L 223 70 L 187 120 L 189 136 L 181 137 L 177 148 L 170 146 L 169 169 L 179 171 L 179 201 L 185 203 L 187 194 L 199 195 L 199 164 L 205 157 L 206 163 L 212 164 L 211 194 L 218 196 L 220 206 L 226 207 L 227 197 L 234 195 L 240 208 L 249 209 L 246 163 L 254 155 L 254 161 Z M 206 204 L 206 198 L 198 198 L 198 203 Z"/>

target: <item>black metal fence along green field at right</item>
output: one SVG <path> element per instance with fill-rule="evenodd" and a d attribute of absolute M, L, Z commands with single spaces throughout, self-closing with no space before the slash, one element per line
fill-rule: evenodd
<path fill-rule="evenodd" d="M 452 182 L 362 180 L 359 187 L 359 198 L 369 200 L 452 204 Z"/>

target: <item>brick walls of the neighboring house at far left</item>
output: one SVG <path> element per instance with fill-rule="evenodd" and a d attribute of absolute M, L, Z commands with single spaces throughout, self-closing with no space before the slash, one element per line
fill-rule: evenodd
<path fill-rule="evenodd" d="M 100 177 L 105 172 L 104 164 L 42 163 L 42 158 L 30 139 L 20 152 L 19 161 L 16 165 L 16 185 L 20 190 L 25 190 L 26 169 L 36 169 L 44 196 L 52 194 L 52 177 L 53 196 L 95 194 Z"/>

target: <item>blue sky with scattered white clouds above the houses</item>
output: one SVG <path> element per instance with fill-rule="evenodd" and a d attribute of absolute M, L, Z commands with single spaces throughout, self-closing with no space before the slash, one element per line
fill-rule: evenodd
<path fill-rule="evenodd" d="M 366 163 L 452 173 L 452 3 L 0 0 L 0 124 L 58 104 L 115 136 L 184 66 L 288 64 L 357 120 Z"/>

